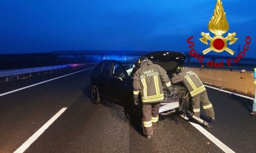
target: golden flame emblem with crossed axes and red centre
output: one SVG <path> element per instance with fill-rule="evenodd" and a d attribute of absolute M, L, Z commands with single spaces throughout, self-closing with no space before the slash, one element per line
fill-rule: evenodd
<path fill-rule="evenodd" d="M 233 55 L 235 52 L 227 47 L 227 41 L 229 44 L 233 44 L 237 41 L 238 38 L 235 38 L 236 33 L 228 33 L 226 38 L 222 35 L 229 30 L 229 23 L 226 19 L 226 13 L 222 7 L 221 0 L 217 0 L 217 4 L 215 6 L 215 10 L 213 12 L 212 19 L 209 21 L 208 29 L 210 32 L 214 33 L 215 36 L 212 38 L 209 33 L 202 32 L 203 36 L 200 38 L 200 41 L 204 42 L 204 44 L 208 45 L 208 40 L 210 41 L 210 47 L 202 51 L 203 54 L 206 54 L 213 50 L 213 52 L 223 52 L 226 50 L 228 53 Z"/>

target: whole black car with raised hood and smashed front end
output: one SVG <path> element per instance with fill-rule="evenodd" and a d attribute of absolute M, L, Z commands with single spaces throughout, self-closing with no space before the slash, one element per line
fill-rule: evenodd
<path fill-rule="evenodd" d="M 153 52 L 145 55 L 154 64 L 162 66 L 169 77 L 172 76 L 178 64 L 185 61 L 185 55 L 180 52 Z M 133 104 L 133 70 L 135 61 L 105 60 L 98 64 L 91 73 L 91 99 L 94 103 L 101 103 L 102 99 L 113 101 L 124 106 L 127 117 L 140 115 L 140 105 Z M 165 92 L 165 101 L 160 112 L 180 106 L 187 88 L 183 83 L 172 85 L 172 93 Z M 166 102 L 166 103 L 165 103 Z"/>

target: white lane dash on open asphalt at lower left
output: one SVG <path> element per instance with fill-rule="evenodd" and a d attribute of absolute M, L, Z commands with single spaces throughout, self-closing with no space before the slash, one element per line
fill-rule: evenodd
<path fill-rule="evenodd" d="M 40 129 L 38 129 L 38 131 L 35 132 L 29 139 L 27 139 L 27 141 L 25 141 L 18 149 L 16 149 L 14 153 L 21 153 L 26 151 L 26 149 L 29 148 L 29 146 L 34 143 L 34 141 L 37 140 L 37 138 L 40 137 L 40 135 L 43 134 L 43 132 L 46 131 L 46 129 L 48 129 L 48 127 L 51 126 L 51 124 L 54 123 L 54 121 L 57 120 L 57 118 L 59 118 L 66 109 L 67 107 L 60 109 L 57 114 L 55 114 L 49 121 L 47 121 Z"/>

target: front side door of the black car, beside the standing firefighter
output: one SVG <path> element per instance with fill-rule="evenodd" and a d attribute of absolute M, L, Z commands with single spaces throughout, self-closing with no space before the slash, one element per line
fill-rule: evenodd
<path fill-rule="evenodd" d="M 120 64 L 115 63 L 110 73 L 109 80 L 112 86 L 111 96 L 113 98 L 113 101 L 116 101 L 116 103 L 121 104 L 123 101 L 126 101 L 126 78 L 127 76 L 124 73 L 123 67 Z"/>

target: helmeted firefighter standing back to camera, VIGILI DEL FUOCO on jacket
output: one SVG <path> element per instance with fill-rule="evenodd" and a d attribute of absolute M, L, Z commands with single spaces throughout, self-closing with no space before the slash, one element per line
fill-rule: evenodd
<path fill-rule="evenodd" d="M 171 82 L 165 69 L 144 56 L 137 60 L 137 66 L 133 79 L 133 101 L 137 103 L 138 95 L 141 95 L 143 131 L 147 138 L 151 138 L 153 129 L 158 125 L 160 102 L 164 100 L 162 82 L 169 92 Z"/>

